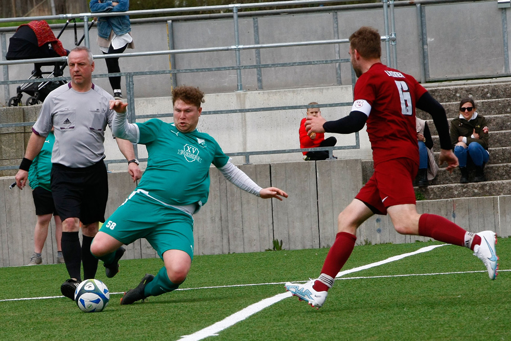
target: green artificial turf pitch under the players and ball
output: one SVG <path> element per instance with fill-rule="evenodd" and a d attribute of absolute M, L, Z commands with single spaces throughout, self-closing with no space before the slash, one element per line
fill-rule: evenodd
<path fill-rule="evenodd" d="M 343 270 L 438 244 L 356 246 Z M 276 299 L 206 339 L 509 340 L 510 250 L 511 239 L 499 238 L 501 270 L 495 281 L 469 250 L 441 246 L 339 277 L 319 310 L 296 297 Z M 136 286 L 146 272 L 156 274 L 160 260 L 121 260 L 121 272 L 112 279 L 100 265 L 97 279 L 113 293 L 101 313 L 83 313 L 58 297 L 67 279 L 63 264 L 0 268 L 0 340 L 201 339 L 194 333 L 252 304 L 282 297 L 284 282 L 318 276 L 327 252 L 196 256 L 179 290 L 130 306 L 119 305 L 121 292 Z M 25 298 L 34 299 L 13 300 Z"/>

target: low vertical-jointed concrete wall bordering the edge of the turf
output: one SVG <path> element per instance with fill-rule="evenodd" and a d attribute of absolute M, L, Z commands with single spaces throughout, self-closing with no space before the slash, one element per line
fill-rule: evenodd
<path fill-rule="evenodd" d="M 196 255 L 262 252 L 272 240 L 286 249 L 329 247 L 337 233 L 337 215 L 362 186 L 360 160 L 276 163 L 240 167 L 263 187 L 285 190 L 284 201 L 265 200 L 241 191 L 210 169 L 210 198 L 194 216 Z M 0 266 L 24 265 L 33 253 L 35 210 L 31 190 L 9 190 L 12 177 L 0 178 Z M 134 189 L 125 172 L 109 173 L 107 216 Z M 511 196 L 417 202 L 420 213 L 434 213 L 471 232 L 494 230 L 511 235 Z M 136 212 L 134 214 L 143 214 Z M 43 249 L 43 263 L 56 253 L 54 225 Z M 357 232 L 357 244 L 405 243 L 429 238 L 397 234 L 387 216 L 369 218 Z M 145 240 L 127 247 L 125 259 L 157 257 Z"/>

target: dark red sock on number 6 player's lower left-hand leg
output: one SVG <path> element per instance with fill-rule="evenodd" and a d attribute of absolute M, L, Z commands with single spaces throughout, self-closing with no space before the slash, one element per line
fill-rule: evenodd
<path fill-rule="evenodd" d="M 324 260 L 321 274 L 335 278 L 344 263 L 350 258 L 356 240 L 357 237 L 351 233 L 339 232 L 335 236 L 334 244 L 330 248 L 327 258 Z M 314 283 L 313 288 L 316 291 L 328 291 L 330 289 L 326 284 L 319 281 Z"/>

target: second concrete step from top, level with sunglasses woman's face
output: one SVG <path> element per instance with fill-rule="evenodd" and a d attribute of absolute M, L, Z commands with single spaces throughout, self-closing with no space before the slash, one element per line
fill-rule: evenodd
<path fill-rule="evenodd" d="M 452 101 L 452 99 L 451 99 Z M 456 102 L 440 102 L 446 109 L 447 118 L 453 119 L 459 116 L 459 101 Z M 511 113 L 511 99 L 499 98 L 491 100 L 480 100 L 476 102 L 476 111 L 488 117 L 490 115 L 506 115 Z M 423 120 L 431 120 L 431 115 L 421 109 L 416 110 L 416 115 Z"/>

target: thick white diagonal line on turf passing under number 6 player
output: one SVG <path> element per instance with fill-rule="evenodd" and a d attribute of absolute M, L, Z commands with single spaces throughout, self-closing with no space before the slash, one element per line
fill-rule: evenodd
<path fill-rule="evenodd" d="M 343 276 L 343 275 L 346 275 L 346 274 L 351 274 L 352 272 L 356 272 L 356 271 L 361 271 L 361 270 L 365 270 L 365 269 L 368 269 L 368 268 L 371 268 L 371 267 L 375 267 L 375 266 L 379 266 L 379 265 L 383 265 L 383 264 L 386 264 L 386 263 L 390 263 L 390 262 L 394 262 L 394 261 L 397 261 L 397 260 L 400 260 L 400 259 L 403 259 L 405 257 L 409 257 L 409 256 L 413 256 L 413 255 L 417 255 L 417 254 L 421 254 L 421 253 L 424 253 L 424 252 L 428 252 L 428 251 L 431 251 L 432 249 L 436 248 L 436 247 L 439 247 L 439 246 L 444 246 L 444 245 L 449 245 L 449 244 L 440 244 L 440 245 L 431 245 L 431 246 L 426 246 L 426 247 L 423 247 L 423 248 L 420 248 L 418 249 L 417 251 L 414 251 L 414 252 L 410 252 L 410 253 L 407 253 L 407 254 L 402 254 L 402 255 L 397 255 L 397 256 L 393 256 L 393 257 L 390 257 L 390 258 L 387 258 L 385 260 L 382 260 L 382 261 L 379 261 L 379 262 L 376 262 L 376 263 L 371 263 L 371 264 L 367 264 L 367 265 L 363 265 L 363 266 L 359 266 L 359 267 L 356 267 L 356 268 L 353 268 L 353 269 L 349 269 L 349 270 L 345 270 L 345 271 L 340 271 L 336 278 L 337 277 L 340 277 L 340 276 Z M 234 314 L 230 315 L 230 316 L 227 316 L 225 317 L 225 319 L 223 319 L 222 321 L 219 321 L 209 327 L 206 327 L 204 329 L 201 329 L 199 331 L 196 331 L 195 333 L 193 334 L 190 334 L 190 335 L 183 335 L 181 336 L 181 339 L 179 341 L 199 341 L 203 338 L 206 338 L 208 336 L 215 336 L 215 335 L 218 335 L 219 332 L 221 332 L 222 330 L 230 327 L 230 326 L 233 326 L 235 325 L 236 323 L 240 322 L 240 321 L 243 321 L 245 320 L 247 317 L 263 310 L 264 308 L 266 307 L 269 307 L 271 306 L 272 304 L 274 303 L 277 303 L 277 302 L 280 302 L 282 300 L 284 300 L 285 298 L 288 298 L 288 297 L 291 297 L 292 294 L 290 292 L 284 292 L 284 293 L 280 293 L 280 294 L 277 294 L 273 297 L 270 297 L 268 299 L 264 299 L 258 303 L 254 303 L 252 305 L 249 305 L 248 307 L 238 311 L 238 312 L 235 312 Z"/>

